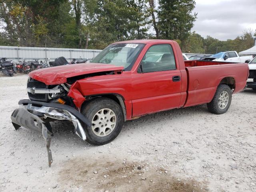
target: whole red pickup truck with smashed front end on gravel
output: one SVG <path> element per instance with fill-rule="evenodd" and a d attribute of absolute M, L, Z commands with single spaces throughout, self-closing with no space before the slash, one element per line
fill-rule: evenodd
<path fill-rule="evenodd" d="M 43 133 L 50 164 L 51 121 L 69 120 L 80 138 L 102 145 L 126 120 L 146 114 L 204 103 L 212 113 L 225 113 L 247 78 L 245 63 L 184 62 L 175 41 L 117 42 L 91 63 L 30 72 L 30 100 L 20 100 L 11 119 L 15 129 Z"/>

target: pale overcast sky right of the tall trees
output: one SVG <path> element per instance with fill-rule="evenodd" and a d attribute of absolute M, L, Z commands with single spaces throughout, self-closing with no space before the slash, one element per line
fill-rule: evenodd
<path fill-rule="evenodd" d="M 197 19 L 192 31 L 203 37 L 234 39 L 256 29 L 256 0 L 195 0 Z"/>

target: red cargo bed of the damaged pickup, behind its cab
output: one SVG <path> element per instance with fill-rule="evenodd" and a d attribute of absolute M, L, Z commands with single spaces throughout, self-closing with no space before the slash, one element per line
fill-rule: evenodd
<path fill-rule="evenodd" d="M 246 86 L 245 77 L 248 77 L 246 63 L 192 60 L 185 61 L 185 69 L 188 87 L 184 107 L 210 102 L 225 78 L 232 78 L 236 82 L 234 93 L 239 92 Z"/>

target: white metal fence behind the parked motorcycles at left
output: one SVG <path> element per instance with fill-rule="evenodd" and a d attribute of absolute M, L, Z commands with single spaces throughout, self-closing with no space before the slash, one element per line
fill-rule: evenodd
<path fill-rule="evenodd" d="M 92 59 L 98 55 L 101 50 L 96 49 L 66 49 L 66 48 L 42 48 L 42 47 L 15 47 L 15 46 L 0 46 L 0 58 L 5 57 L 9 60 L 44 60 L 50 58 L 54 61 L 55 58 L 64 56 L 67 60 L 72 58 L 89 58 Z"/>

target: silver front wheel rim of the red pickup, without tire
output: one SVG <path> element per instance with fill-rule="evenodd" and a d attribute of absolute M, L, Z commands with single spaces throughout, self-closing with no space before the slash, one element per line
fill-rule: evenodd
<path fill-rule="evenodd" d="M 116 127 L 116 114 L 109 108 L 98 110 L 92 118 L 92 131 L 96 136 L 105 137 Z"/>

